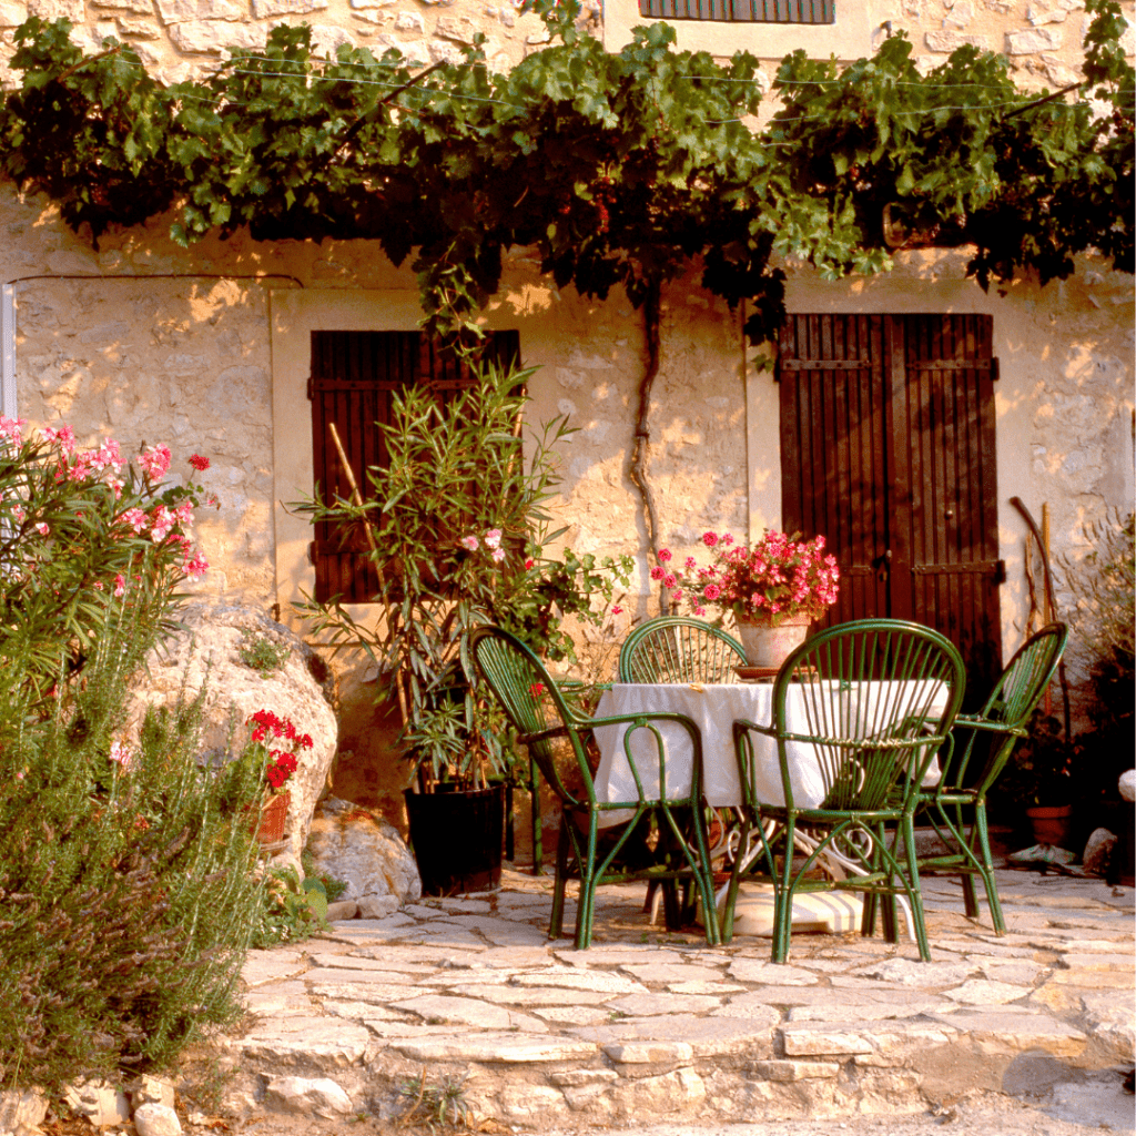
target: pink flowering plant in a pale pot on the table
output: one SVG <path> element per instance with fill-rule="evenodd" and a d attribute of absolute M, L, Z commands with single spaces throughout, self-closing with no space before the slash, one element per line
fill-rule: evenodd
<path fill-rule="evenodd" d="M 751 667 L 777 668 L 804 642 L 809 624 L 836 602 L 840 570 L 825 556 L 825 538 L 797 541 L 785 533 L 766 532 L 757 544 L 736 544 L 729 533 L 703 533 L 713 559 L 707 566 L 687 557 L 673 568 L 669 549 L 659 551 L 651 578 L 670 588 L 694 615 L 709 608 L 734 617 Z"/>

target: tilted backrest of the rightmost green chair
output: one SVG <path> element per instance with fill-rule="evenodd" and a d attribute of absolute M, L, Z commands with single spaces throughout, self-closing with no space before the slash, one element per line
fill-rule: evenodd
<path fill-rule="evenodd" d="M 1068 642 L 1068 626 L 1054 623 L 1047 624 L 1018 648 L 977 715 L 984 721 L 1003 726 L 1004 733 L 972 730 L 966 747 L 951 763 L 944 777 L 944 787 L 961 787 L 967 784 L 967 767 L 976 743 L 985 735 L 989 740 L 989 747 L 982 771 L 971 777 L 971 790 L 985 795 L 1010 760 L 1021 732 L 1053 679 L 1053 673 L 1058 669 Z M 964 728 L 966 721 L 960 721 L 959 727 Z"/>

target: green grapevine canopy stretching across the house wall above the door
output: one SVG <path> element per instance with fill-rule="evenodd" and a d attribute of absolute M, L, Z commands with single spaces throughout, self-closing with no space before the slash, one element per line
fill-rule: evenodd
<path fill-rule="evenodd" d="M 847 67 L 797 51 L 757 130 L 758 61 L 717 64 L 640 28 L 618 55 L 575 27 L 576 0 L 535 0 L 553 45 L 508 74 L 478 45 L 425 72 L 394 50 L 311 55 L 276 28 L 211 77 L 165 89 L 127 47 L 84 58 L 68 25 L 30 19 L 0 109 L 0 162 L 92 240 L 170 212 L 183 244 L 362 237 L 412 258 L 432 326 L 473 319 L 512 245 L 558 285 L 641 304 L 692 260 L 745 300 L 760 340 L 783 314 L 793 256 L 872 273 L 903 243 L 975 247 L 985 287 L 1044 282 L 1096 249 L 1133 270 L 1133 68 L 1114 0 L 1088 0 L 1086 82 L 1017 89 L 971 47 L 921 75 L 902 36 Z"/>

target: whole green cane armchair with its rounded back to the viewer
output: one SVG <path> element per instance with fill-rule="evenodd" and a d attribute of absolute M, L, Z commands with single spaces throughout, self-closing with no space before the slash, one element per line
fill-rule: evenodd
<path fill-rule="evenodd" d="M 771 722 L 734 722 L 744 808 L 721 920 L 724 942 L 733 936 L 747 867 L 743 853 L 753 832 L 774 885 L 774 962 L 788 955 L 794 894 L 819 888 L 885 895 L 884 930 L 892 942 L 894 897 L 904 893 L 919 957 L 929 960 L 919 875 L 909 868 L 916 862 L 913 816 L 927 767 L 942 746 L 950 749 L 964 683 L 962 659 L 949 640 L 896 619 L 829 627 L 793 651 L 774 680 Z M 776 741 L 783 802 L 757 796 L 755 734 Z M 811 800 L 799 801 L 805 792 Z M 891 840 L 888 826 L 894 826 Z M 801 864 L 794 859 L 799 827 L 808 830 Z M 828 850 L 851 860 L 859 874 L 807 879 Z M 875 930 L 874 903 L 866 903 L 866 917 L 869 905 L 864 935 Z"/>

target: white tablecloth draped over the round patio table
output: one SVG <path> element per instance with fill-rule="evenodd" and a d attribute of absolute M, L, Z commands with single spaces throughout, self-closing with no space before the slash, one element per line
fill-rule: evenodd
<path fill-rule="evenodd" d="M 870 717 L 872 707 L 882 696 L 893 698 L 899 683 L 853 683 L 845 685 L 834 698 L 862 700 L 861 713 Z M 902 686 L 908 686 L 903 683 Z M 937 683 L 933 709 L 942 713 L 947 701 L 947 687 Z M 835 691 L 835 687 L 834 687 Z M 742 803 L 742 785 L 734 753 L 734 720 L 747 718 L 759 725 L 769 725 L 772 716 L 771 683 L 734 684 L 658 684 L 638 685 L 620 683 L 605 691 L 595 716 L 636 713 L 643 710 L 670 710 L 686 715 L 702 735 L 703 796 L 715 807 Z M 811 733 L 804 717 L 800 690 L 790 688 L 785 711 L 790 733 Z M 601 801 L 634 801 L 635 780 L 624 753 L 624 726 L 602 726 L 595 730 L 600 747 L 600 768 L 595 775 L 595 792 Z M 680 726 L 661 724 L 660 733 L 666 744 L 668 794 L 685 795 L 690 792 L 693 751 L 686 732 Z M 785 803 L 777 743 L 771 737 L 751 733 L 754 750 L 754 791 L 759 801 L 779 805 Z M 786 746 L 793 797 L 797 808 L 816 808 L 825 797 L 825 786 L 812 745 L 790 742 Z M 646 730 L 632 735 L 632 755 L 638 758 L 636 768 L 643 788 L 650 799 L 658 795 L 658 760 L 653 737 Z M 938 782 L 938 766 L 932 762 L 924 784 Z M 616 820 L 612 815 L 612 822 Z"/>

